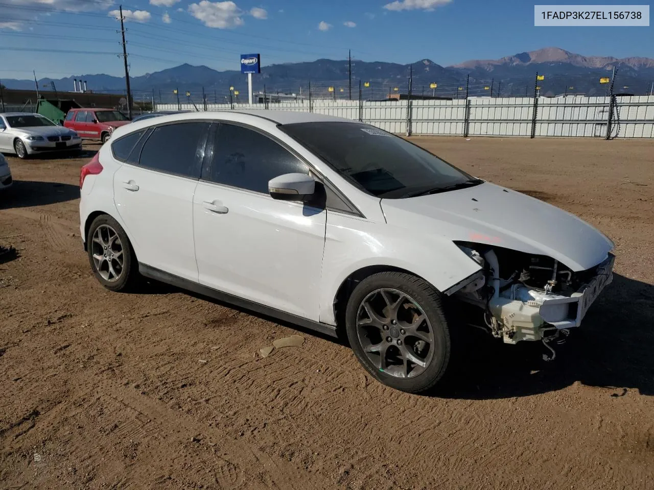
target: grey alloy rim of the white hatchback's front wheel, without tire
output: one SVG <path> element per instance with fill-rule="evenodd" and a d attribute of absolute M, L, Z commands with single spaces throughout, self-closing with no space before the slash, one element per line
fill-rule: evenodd
<path fill-rule="evenodd" d="M 356 333 L 368 361 L 396 378 L 421 374 L 434 357 L 434 330 L 411 296 L 383 287 L 360 303 Z"/>

